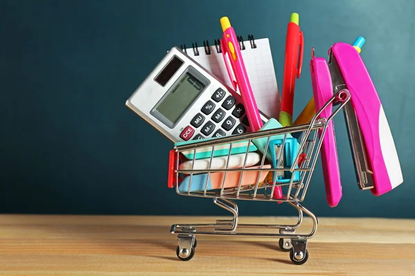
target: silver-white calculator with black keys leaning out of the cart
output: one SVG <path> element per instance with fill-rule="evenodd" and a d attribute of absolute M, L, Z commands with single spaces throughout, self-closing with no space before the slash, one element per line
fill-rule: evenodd
<path fill-rule="evenodd" d="M 250 132 L 239 93 L 177 47 L 125 104 L 175 143 Z"/>

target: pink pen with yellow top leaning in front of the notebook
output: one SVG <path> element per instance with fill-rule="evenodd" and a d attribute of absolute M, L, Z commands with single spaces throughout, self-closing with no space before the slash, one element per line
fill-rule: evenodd
<path fill-rule="evenodd" d="M 239 88 L 239 94 L 241 95 L 242 104 L 246 110 L 246 116 L 248 117 L 249 125 L 252 132 L 255 132 L 262 128 L 263 124 L 255 102 L 255 97 L 250 86 L 248 74 L 243 63 L 241 50 L 239 49 L 239 43 L 237 35 L 234 29 L 230 26 L 228 17 L 221 18 L 221 26 L 223 30 L 223 38 L 221 39 L 221 48 L 223 58 L 225 59 L 226 70 L 228 70 L 229 77 L 232 81 L 232 85 L 235 91 Z M 230 62 L 235 79 L 232 77 Z"/>

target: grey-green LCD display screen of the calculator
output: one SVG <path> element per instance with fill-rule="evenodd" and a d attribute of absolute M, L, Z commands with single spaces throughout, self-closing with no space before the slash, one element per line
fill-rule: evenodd
<path fill-rule="evenodd" d="M 165 99 L 160 102 L 156 110 L 172 124 L 176 124 L 176 121 L 203 88 L 205 88 L 204 83 L 196 79 L 190 72 L 186 72 Z"/>

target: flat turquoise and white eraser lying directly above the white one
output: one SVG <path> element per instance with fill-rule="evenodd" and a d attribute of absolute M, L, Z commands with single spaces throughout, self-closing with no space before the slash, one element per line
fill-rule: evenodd
<path fill-rule="evenodd" d="M 203 141 L 210 141 L 217 139 L 216 137 L 203 139 Z M 174 146 L 183 146 L 183 145 L 190 145 L 190 144 L 196 144 L 198 143 L 198 140 L 190 140 L 190 141 L 183 141 L 183 142 L 177 142 L 174 144 Z M 232 142 L 232 149 L 230 150 L 231 155 L 236 155 L 238 153 L 246 152 L 246 149 L 248 147 L 248 140 L 246 141 L 236 141 Z M 230 144 L 220 144 L 214 146 L 214 152 L 213 157 L 216 156 L 223 156 L 229 154 L 229 148 Z M 195 159 L 203 159 L 203 158 L 210 158 L 212 155 L 212 146 L 205 146 L 203 148 L 197 148 L 196 149 L 196 157 Z M 250 143 L 248 152 L 257 151 L 257 147 Z M 181 152 L 187 159 L 193 159 L 194 150 L 183 150 Z"/>

